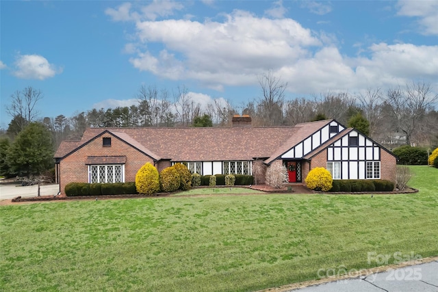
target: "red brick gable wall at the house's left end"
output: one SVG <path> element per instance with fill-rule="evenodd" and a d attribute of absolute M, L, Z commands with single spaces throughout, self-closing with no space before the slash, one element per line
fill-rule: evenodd
<path fill-rule="evenodd" d="M 102 146 L 103 137 L 111 137 L 111 147 Z M 64 194 L 64 188 L 68 183 L 88 183 L 88 165 L 85 164 L 88 156 L 126 156 L 126 182 L 136 181 L 136 174 L 144 163 L 150 162 L 153 164 L 151 157 L 120 141 L 110 133 L 105 133 L 62 159 L 60 162 L 60 189 L 62 194 Z"/>

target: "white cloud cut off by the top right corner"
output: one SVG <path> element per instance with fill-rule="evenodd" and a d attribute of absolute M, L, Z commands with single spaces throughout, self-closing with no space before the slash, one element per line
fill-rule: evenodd
<path fill-rule="evenodd" d="M 421 34 L 438 34 L 438 1 L 398 1 L 397 6 L 398 15 L 418 18 Z"/>

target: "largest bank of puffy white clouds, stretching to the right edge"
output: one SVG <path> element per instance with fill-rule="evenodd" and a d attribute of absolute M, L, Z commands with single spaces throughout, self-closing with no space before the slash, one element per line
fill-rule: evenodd
<path fill-rule="evenodd" d="M 127 45 L 134 54 L 129 62 L 164 79 L 195 80 L 218 91 L 257 85 L 257 75 L 268 70 L 300 94 L 385 88 L 414 79 L 438 88 L 437 46 L 370 39 L 353 45 L 357 56 L 347 56 L 339 51 L 335 34 L 311 31 L 291 18 L 242 10 L 221 15 L 222 22 L 138 21 L 137 39 Z M 154 51 L 154 44 L 163 49 Z"/>

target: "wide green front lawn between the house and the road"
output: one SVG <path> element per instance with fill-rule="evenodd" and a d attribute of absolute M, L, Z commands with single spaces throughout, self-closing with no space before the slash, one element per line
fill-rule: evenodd
<path fill-rule="evenodd" d="M 0 291 L 254 291 L 438 255 L 438 170 L 416 194 L 269 194 L 0 207 Z M 394 258 L 389 259 L 392 263 Z"/>

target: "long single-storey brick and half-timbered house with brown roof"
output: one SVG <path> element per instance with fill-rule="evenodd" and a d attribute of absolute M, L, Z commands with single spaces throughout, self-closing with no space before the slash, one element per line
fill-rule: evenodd
<path fill-rule="evenodd" d="M 62 142 L 55 171 L 64 192 L 70 182 L 135 181 L 146 162 L 158 171 L 184 163 L 191 172 L 207 175 L 253 174 L 257 160 L 266 168 L 286 165 L 290 183 L 304 183 L 316 167 L 328 169 L 333 179 L 395 181 L 396 175 L 396 156 L 336 120 L 252 127 L 249 116 L 234 116 L 231 127 L 90 128 L 81 141 Z"/>

